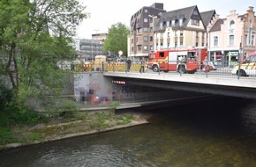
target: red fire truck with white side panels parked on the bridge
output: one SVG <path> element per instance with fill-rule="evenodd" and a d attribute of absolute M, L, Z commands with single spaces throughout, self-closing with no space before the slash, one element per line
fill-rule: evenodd
<path fill-rule="evenodd" d="M 147 67 L 154 72 L 177 71 L 193 74 L 197 69 L 211 70 L 207 64 L 207 47 L 183 47 L 157 50 L 148 55 Z"/>

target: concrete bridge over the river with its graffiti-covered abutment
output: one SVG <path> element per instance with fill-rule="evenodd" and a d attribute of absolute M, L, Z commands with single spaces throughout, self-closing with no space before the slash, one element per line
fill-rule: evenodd
<path fill-rule="evenodd" d="M 195 74 L 88 71 L 75 73 L 76 100 L 90 106 L 136 107 L 195 98 L 256 98 L 255 76 L 233 76 L 229 68 Z"/>

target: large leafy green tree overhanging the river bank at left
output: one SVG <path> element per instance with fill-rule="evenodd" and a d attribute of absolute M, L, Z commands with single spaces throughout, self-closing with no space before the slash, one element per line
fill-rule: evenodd
<path fill-rule="evenodd" d="M 0 1 L 0 75 L 9 77 L 20 105 L 62 91 L 65 74 L 56 64 L 73 59 L 84 10 L 78 0 Z"/>

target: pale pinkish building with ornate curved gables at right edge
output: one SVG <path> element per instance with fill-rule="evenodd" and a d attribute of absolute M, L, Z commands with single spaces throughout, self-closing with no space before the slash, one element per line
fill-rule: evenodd
<path fill-rule="evenodd" d="M 252 6 L 244 15 L 230 11 L 226 18 L 216 16 L 207 29 L 208 51 L 214 62 L 232 66 L 256 50 L 256 17 Z"/>

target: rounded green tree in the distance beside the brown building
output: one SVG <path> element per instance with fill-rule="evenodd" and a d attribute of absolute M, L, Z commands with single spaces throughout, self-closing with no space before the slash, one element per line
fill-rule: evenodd
<path fill-rule="evenodd" d="M 107 39 L 104 41 L 103 52 L 111 52 L 118 54 L 122 50 L 127 55 L 127 36 L 129 28 L 122 23 L 111 25 L 109 28 Z"/>

